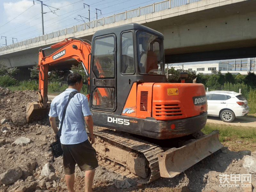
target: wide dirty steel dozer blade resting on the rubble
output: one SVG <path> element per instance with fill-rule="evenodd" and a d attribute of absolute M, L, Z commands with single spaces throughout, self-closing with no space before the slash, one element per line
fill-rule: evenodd
<path fill-rule="evenodd" d="M 219 140 L 219 131 L 214 130 L 198 140 L 180 148 L 171 148 L 158 154 L 161 177 L 172 178 L 216 152 L 223 145 Z"/>

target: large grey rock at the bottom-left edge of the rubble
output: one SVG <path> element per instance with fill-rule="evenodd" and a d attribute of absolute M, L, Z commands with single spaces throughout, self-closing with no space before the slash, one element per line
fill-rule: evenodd
<path fill-rule="evenodd" d="M 4 185 L 9 185 L 19 180 L 22 176 L 22 169 L 20 167 L 15 167 L 13 169 L 8 169 L 6 172 L 0 175 L 1 182 Z"/>

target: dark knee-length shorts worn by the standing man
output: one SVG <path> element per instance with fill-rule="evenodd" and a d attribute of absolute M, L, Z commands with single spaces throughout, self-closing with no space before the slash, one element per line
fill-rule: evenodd
<path fill-rule="evenodd" d="M 75 173 L 76 164 L 81 171 L 93 170 L 99 166 L 96 150 L 89 140 L 78 144 L 61 144 L 61 148 L 63 150 L 63 166 L 66 175 Z"/>

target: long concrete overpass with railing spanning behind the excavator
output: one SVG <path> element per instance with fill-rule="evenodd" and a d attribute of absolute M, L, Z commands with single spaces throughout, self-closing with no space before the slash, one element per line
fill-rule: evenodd
<path fill-rule="evenodd" d="M 72 36 L 91 40 L 95 31 L 127 23 L 163 33 L 166 63 L 255 57 L 256 0 L 186 1 L 166 0 L 1 47 L 0 62 L 29 67 L 38 62 L 38 48 Z"/>

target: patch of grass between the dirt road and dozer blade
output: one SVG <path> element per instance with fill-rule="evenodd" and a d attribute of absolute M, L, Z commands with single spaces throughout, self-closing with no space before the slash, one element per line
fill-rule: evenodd
<path fill-rule="evenodd" d="M 205 134 L 213 130 L 219 130 L 219 140 L 232 151 L 251 150 L 256 151 L 255 127 L 230 126 L 223 124 L 206 123 L 201 130 Z"/>

